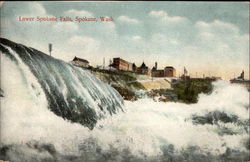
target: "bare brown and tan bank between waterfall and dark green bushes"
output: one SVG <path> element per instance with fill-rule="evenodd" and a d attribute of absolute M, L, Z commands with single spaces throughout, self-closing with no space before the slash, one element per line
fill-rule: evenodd
<path fill-rule="evenodd" d="M 126 100 L 136 100 L 137 92 L 154 89 L 171 89 L 171 79 L 154 78 L 128 71 L 110 71 L 89 68 L 90 72 L 103 82 L 110 84 Z"/>

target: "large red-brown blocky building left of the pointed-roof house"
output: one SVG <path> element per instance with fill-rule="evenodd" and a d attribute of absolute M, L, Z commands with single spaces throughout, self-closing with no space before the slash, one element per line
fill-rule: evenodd
<path fill-rule="evenodd" d="M 125 70 L 125 71 L 132 71 L 133 65 L 130 62 L 127 62 L 120 57 L 113 58 L 113 63 L 110 65 L 111 67 L 117 70 Z"/>

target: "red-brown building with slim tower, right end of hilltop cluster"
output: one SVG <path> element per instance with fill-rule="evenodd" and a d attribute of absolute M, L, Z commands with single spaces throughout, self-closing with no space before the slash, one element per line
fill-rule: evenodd
<path fill-rule="evenodd" d="M 157 62 L 156 62 L 155 66 L 152 68 L 151 76 L 152 77 L 175 77 L 176 70 L 172 66 L 167 66 L 164 69 L 158 70 Z"/>

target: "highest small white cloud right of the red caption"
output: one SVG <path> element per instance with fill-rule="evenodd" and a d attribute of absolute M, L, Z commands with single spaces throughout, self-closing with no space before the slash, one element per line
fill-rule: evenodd
<path fill-rule="evenodd" d="M 180 22 L 187 20 L 187 18 L 181 16 L 169 16 L 168 13 L 163 10 L 151 11 L 148 15 L 152 18 L 158 18 L 162 22 Z"/>

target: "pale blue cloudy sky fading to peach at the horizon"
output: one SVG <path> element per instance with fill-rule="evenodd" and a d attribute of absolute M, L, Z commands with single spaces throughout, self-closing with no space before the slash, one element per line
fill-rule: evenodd
<path fill-rule="evenodd" d="M 70 22 L 19 21 L 19 17 L 71 17 Z M 97 18 L 77 22 L 75 17 Z M 112 17 L 102 22 L 99 17 Z M 192 77 L 249 78 L 249 2 L 4 2 L 1 37 L 66 62 L 90 65 L 121 57 L 140 66 L 184 66 Z"/>

